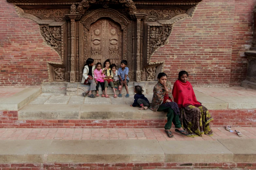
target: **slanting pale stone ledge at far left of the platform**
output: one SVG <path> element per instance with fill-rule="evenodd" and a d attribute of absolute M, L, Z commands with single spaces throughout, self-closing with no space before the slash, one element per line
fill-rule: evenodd
<path fill-rule="evenodd" d="M 17 111 L 41 93 L 41 88 L 26 88 L 0 101 L 0 110 Z"/>

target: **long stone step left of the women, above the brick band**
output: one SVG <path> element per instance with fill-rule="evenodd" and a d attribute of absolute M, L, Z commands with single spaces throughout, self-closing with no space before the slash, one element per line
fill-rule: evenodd
<path fill-rule="evenodd" d="M 142 120 L 166 119 L 164 112 L 139 110 L 129 105 L 27 105 L 18 111 L 19 120 Z"/>

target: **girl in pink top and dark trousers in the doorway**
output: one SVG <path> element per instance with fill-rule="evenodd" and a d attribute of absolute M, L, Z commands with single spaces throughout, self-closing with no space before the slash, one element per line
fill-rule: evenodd
<path fill-rule="evenodd" d="M 94 70 L 94 80 L 96 83 L 96 96 L 99 96 L 99 85 L 101 86 L 102 89 L 102 95 L 101 97 L 105 97 L 104 95 L 104 80 L 103 78 L 105 78 L 105 75 L 101 73 L 102 69 L 101 69 L 101 63 L 97 63 L 96 64 L 96 69 Z"/>

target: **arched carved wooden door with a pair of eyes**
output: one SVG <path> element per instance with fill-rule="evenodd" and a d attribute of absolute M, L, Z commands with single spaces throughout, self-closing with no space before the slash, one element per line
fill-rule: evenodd
<path fill-rule="evenodd" d="M 88 57 L 93 58 L 95 64 L 103 64 L 110 59 L 111 64 L 119 67 L 123 56 L 123 32 L 120 25 L 111 19 L 100 19 L 90 25 L 88 33 L 88 51 L 91 51 Z"/>

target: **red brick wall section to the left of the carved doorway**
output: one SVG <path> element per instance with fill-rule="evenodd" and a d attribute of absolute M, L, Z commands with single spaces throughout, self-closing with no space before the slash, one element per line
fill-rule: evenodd
<path fill-rule="evenodd" d="M 0 0 L 0 87 L 41 85 L 48 81 L 47 61 L 60 57 L 43 44 L 39 25 Z"/>

